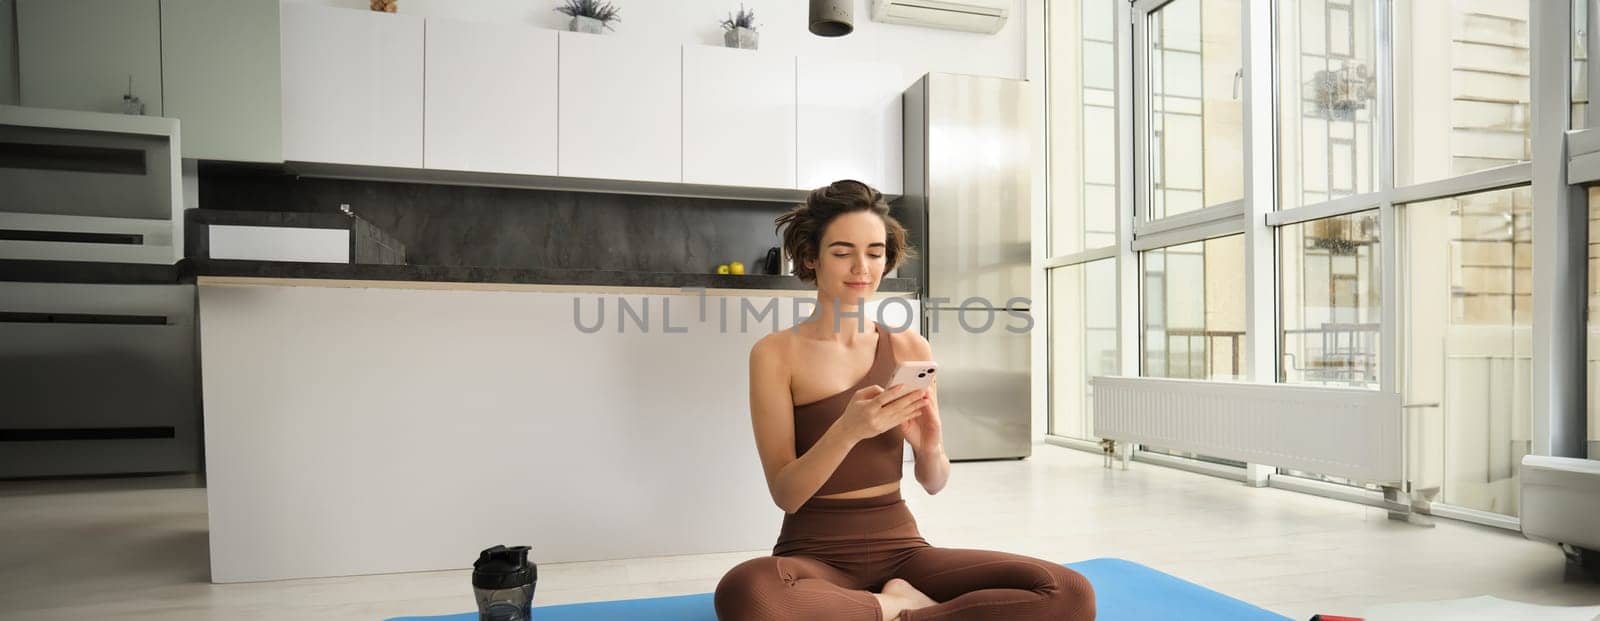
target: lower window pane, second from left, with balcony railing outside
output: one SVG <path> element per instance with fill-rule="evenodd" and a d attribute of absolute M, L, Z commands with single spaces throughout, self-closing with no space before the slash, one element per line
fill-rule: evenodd
<path fill-rule="evenodd" d="M 1149 378 L 1245 378 L 1245 237 L 1142 254 L 1144 365 Z"/>

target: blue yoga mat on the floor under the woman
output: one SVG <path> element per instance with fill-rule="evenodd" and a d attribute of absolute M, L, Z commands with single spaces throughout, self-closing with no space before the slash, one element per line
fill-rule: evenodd
<path fill-rule="evenodd" d="M 1222 595 L 1122 559 L 1066 563 L 1094 586 L 1096 619 L 1290 621 L 1290 618 Z M 662 619 L 715 621 L 709 592 L 616 602 L 534 607 L 533 621 Z M 477 621 L 478 613 L 397 616 L 387 621 Z"/>

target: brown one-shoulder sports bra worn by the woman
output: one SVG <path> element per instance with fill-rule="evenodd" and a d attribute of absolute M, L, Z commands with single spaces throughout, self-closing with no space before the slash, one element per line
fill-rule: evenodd
<path fill-rule="evenodd" d="M 850 397 L 872 384 L 888 384 L 894 373 L 894 347 L 890 346 L 890 331 L 882 323 L 872 322 L 878 331 L 878 349 L 872 355 L 872 368 L 856 386 L 832 397 L 811 403 L 795 405 L 795 455 L 805 455 L 816 440 L 822 439 L 827 427 L 845 413 Z M 861 490 L 874 485 L 901 480 L 906 463 L 906 432 L 899 426 L 891 427 L 875 437 L 861 440 L 845 455 L 834 475 L 816 490 L 816 496 L 827 496 L 840 491 Z"/>

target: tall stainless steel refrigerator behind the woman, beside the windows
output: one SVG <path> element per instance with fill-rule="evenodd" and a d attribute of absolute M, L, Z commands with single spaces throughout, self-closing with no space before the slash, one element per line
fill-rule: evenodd
<path fill-rule="evenodd" d="M 1032 451 L 1029 341 L 1043 325 L 1029 312 L 1027 90 L 928 74 L 902 99 L 906 190 L 894 214 L 920 258 L 901 274 L 920 282 L 950 459 Z"/>

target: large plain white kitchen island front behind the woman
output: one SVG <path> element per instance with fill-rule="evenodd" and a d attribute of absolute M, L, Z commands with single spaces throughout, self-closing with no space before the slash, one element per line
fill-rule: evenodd
<path fill-rule="evenodd" d="M 550 563 L 778 535 L 747 360 L 811 312 L 794 277 L 189 270 L 216 583 L 466 568 L 493 544 Z M 869 317 L 917 330 L 915 283 L 885 290 Z"/>

